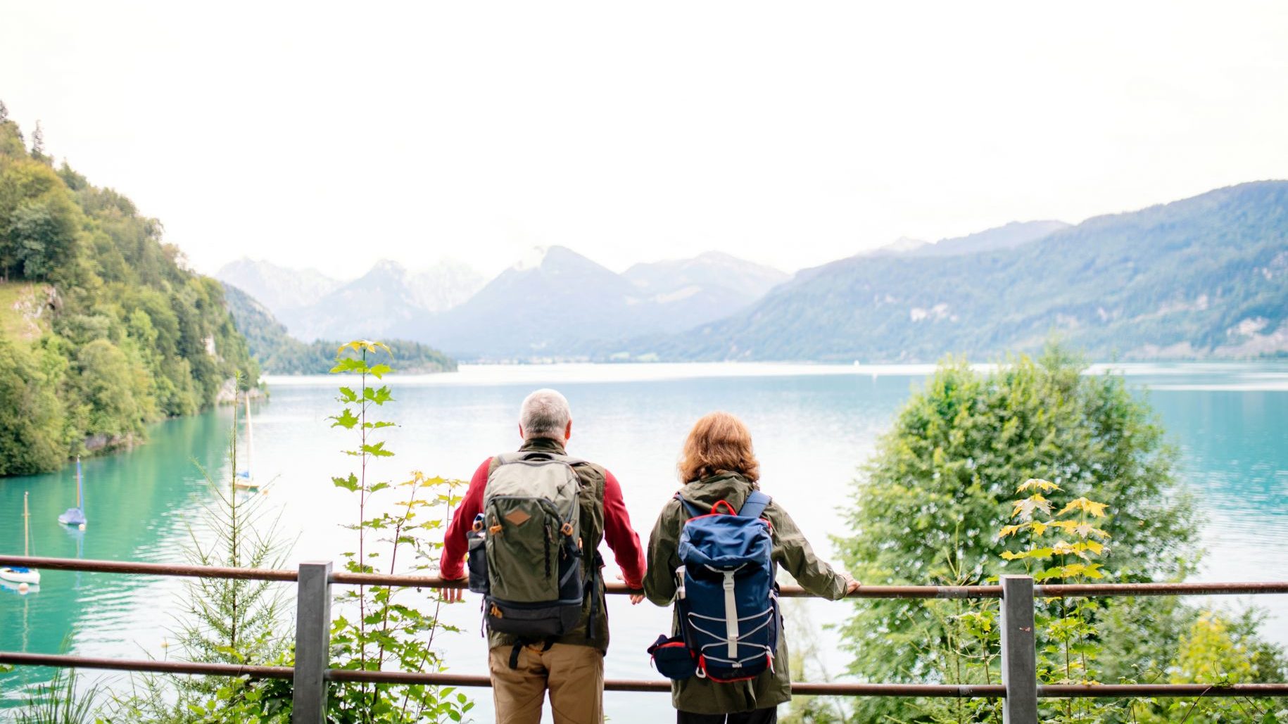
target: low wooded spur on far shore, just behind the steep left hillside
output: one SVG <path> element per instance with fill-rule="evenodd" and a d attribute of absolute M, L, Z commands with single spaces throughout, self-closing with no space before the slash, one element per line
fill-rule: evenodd
<path fill-rule="evenodd" d="M 233 285 L 224 285 L 228 310 L 237 330 L 246 338 L 251 356 L 270 375 L 322 375 L 335 367 L 339 341 L 303 343 L 289 334 L 267 307 Z M 401 339 L 383 340 L 390 352 L 388 361 L 398 372 L 451 372 L 456 361 L 437 349 Z"/>

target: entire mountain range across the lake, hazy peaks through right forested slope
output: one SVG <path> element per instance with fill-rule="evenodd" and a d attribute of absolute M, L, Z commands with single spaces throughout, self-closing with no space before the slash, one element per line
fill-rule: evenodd
<path fill-rule="evenodd" d="M 1255 182 L 1077 225 L 902 238 L 792 276 L 720 252 L 616 273 L 563 246 L 486 283 L 393 262 L 348 283 L 246 260 L 218 276 L 305 341 L 477 361 L 926 362 L 1052 336 L 1096 358 L 1244 358 L 1288 354 L 1285 210 L 1288 182 Z"/>

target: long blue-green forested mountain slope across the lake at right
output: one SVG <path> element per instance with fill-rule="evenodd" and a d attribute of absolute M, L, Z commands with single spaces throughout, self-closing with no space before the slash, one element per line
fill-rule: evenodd
<path fill-rule="evenodd" d="M 1095 358 L 1251 358 L 1288 354 L 1285 322 L 1288 182 L 1257 182 L 1015 249 L 842 259 L 726 319 L 600 357 L 912 362 L 1056 334 Z"/>

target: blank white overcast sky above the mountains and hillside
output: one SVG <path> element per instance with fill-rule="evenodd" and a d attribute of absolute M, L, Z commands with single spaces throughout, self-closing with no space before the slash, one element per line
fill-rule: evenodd
<path fill-rule="evenodd" d="M 0 99 L 205 272 L 791 271 L 1288 178 L 1288 3 L 0 0 Z"/>

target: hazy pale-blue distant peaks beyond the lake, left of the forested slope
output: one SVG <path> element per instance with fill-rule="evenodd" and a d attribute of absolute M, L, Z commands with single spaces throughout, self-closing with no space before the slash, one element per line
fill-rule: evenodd
<path fill-rule="evenodd" d="M 215 276 L 303 341 L 404 339 L 471 359 L 567 357 L 604 336 L 679 332 L 726 317 L 790 278 L 720 252 L 618 274 L 563 246 L 533 249 L 487 283 L 459 264 L 412 273 L 389 260 L 346 283 L 246 259 Z"/>

